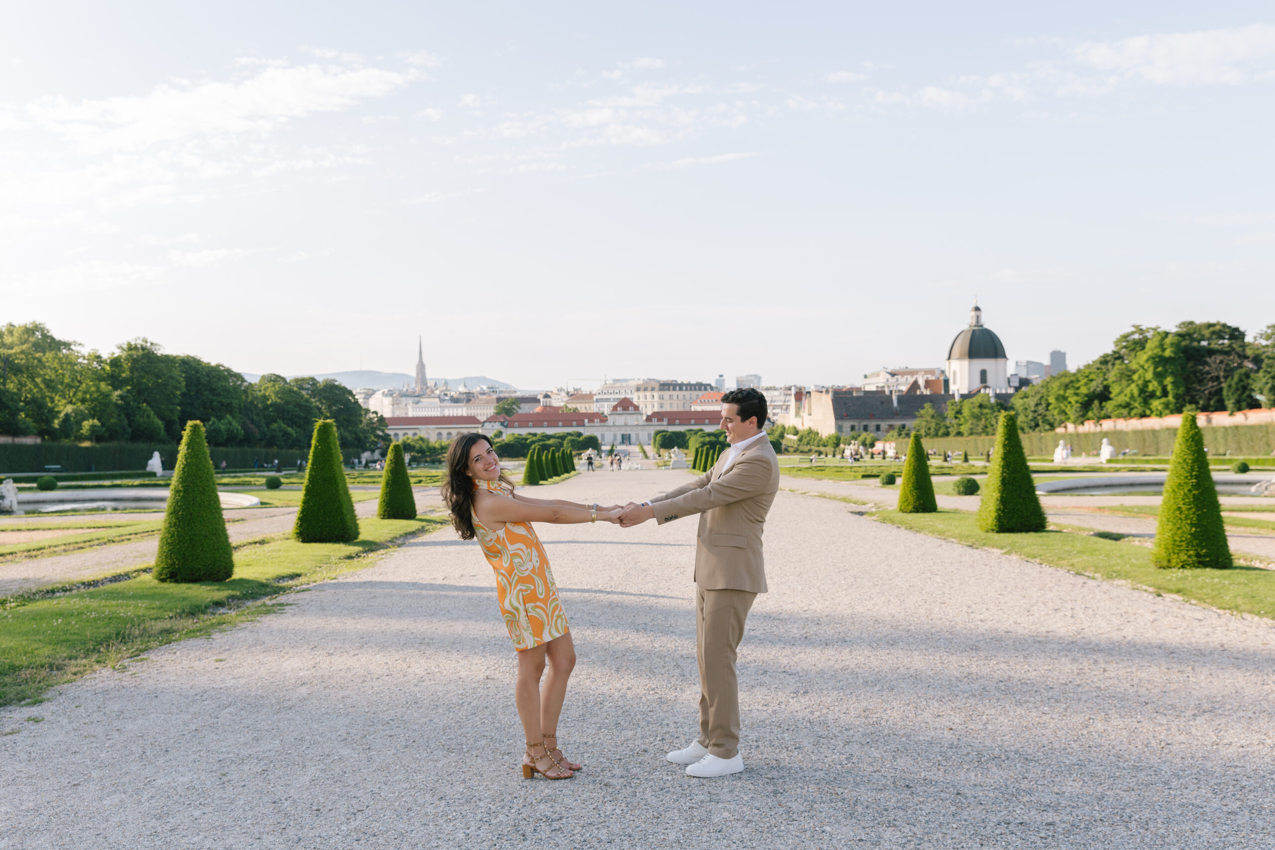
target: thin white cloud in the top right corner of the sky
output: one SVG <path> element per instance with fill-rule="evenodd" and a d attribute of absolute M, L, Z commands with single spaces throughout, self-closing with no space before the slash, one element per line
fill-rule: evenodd
<path fill-rule="evenodd" d="M 1149 83 L 1238 84 L 1262 71 L 1269 74 L 1275 60 L 1275 27 L 1252 24 L 1086 42 L 1074 56 L 1098 71 Z"/>

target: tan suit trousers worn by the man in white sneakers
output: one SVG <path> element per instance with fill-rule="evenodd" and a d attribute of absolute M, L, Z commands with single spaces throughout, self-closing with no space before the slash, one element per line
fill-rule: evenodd
<path fill-rule="evenodd" d="M 695 589 L 695 656 L 700 663 L 700 746 L 718 758 L 740 752 L 736 650 L 757 594 Z"/>

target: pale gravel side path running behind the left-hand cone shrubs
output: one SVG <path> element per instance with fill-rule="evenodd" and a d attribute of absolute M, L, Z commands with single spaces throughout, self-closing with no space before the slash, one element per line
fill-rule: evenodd
<path fill-rule="evenodd" d="M 436 493 L 437 491 L 435 491 L 432 500 L 428 496 L 418 498 L 418 506 L 439 503 Z M 375 516 L 376 502 L 354 502 L 354 512 L 358 516 Z M 224 512 L 226 530 L 229 533 L 231 543 L 241 543 L 288 531 L 292 529 L 296 515 L 297 508 L 295 507 L 228 510 Z M 163 519 L 162 514 L 144 514 L 142 516 L 148 520 Z M 110 515 L 108 519 L 116 520 L 119 517 Z M 159 539 L 153 537 L 131 543 L 76 549 L 65 554 L 43 557 L 34 554 L 22 561 L 0 562 L 0 595 L 143 567 L 154 562 L 158 548 Z"/>

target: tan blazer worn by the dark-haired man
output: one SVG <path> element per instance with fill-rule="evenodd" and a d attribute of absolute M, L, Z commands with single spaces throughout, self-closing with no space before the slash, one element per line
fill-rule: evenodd
<path fill-rule="evenodd" d="M 700 515 L 695 584 L 704 590 L 766 593 L 761 531 L 779 492 L 779 459 L 768 437 L 736 457 L 724 474 L 725 452 L 704 475 L 652 500 L 663 525 Z"/>

